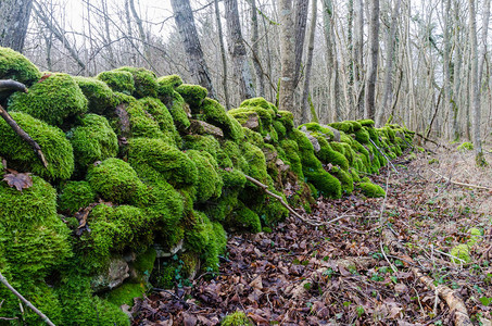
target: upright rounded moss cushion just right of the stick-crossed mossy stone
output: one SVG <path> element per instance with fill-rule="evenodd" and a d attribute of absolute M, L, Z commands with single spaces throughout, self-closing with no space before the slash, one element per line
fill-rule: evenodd
<path fill-rule="evenodd" d="M 87 114 L 80 125 L 67 133 L 77 166 L 84 171 L 96 161 L 116 156 L 118 141 L 106 118 Z"/>

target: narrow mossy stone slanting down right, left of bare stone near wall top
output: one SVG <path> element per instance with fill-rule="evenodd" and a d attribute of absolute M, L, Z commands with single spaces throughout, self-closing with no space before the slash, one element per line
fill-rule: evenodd
<path fill-rule="evenodd" d="M 152 118 L 157 123 L 159 128 L 164 133 L 165 139 L 179 146 L 179 134 L 174 124 L 173 116 L 164 103 L 154 98 L 143 98 L 139 102 L 142 104 L 144 112 L 151 114 Z"/>

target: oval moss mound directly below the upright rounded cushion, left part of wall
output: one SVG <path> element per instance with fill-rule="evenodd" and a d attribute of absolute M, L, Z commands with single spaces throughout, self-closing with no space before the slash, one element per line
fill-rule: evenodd
<path fill-rule="evenodd" d="M 106 159 L 91 166 L 87 174 L 90 187 L 106 201 L 129 203 L 144 185 L 131 166 L 119 159 Z"/>

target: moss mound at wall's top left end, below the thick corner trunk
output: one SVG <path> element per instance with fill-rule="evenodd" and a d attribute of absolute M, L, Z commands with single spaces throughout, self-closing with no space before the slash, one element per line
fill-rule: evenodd
<path fill-rule="evenodd" d="M 39 70 L 24 55 L 0 47 L 0 79 L 14 79 L 30 86 L 41 78 Z"/>

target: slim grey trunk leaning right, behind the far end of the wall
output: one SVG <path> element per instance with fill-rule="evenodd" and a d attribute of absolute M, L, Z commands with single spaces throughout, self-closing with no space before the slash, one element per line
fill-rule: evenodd
<path fill-rule="evenodd" d="M 378 112 L 376 117 L 376 125 L 382 125 L 382 121 L 384 118 L 384 113 L 390 111 L 389 105 L 391 105 L 391 93 L 392 93 L 392 74 L 393 74 L 393 55 L 394 55 L 394 43 L 395 43 L 395 36 L 396 36 L 396 22 L 400 15 L 400 3 L 401 0 L 396 0 L 394 4 L 393 13 L 391 14 L 391 26 L 390 33 L 388 34 L 388 53 L 387 53 L 387 66 L 386 66 L 386 75 L 384 75 L 384 90 L 382 96 L 382 105 Z"/>

